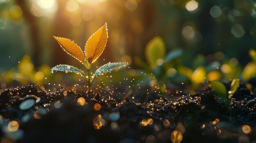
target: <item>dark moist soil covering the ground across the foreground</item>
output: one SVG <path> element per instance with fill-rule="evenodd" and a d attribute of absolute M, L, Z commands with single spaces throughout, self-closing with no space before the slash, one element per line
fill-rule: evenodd
<path fill-rule="evenodd" d="M 229 108 L 208 88 L 175 101 L 139 103 L 135 101 L 143 101 L 143 91 L 117 102 L 98 93 L 88 98 L 85 91 L 66 91 L 64 96 L 63 89 L 47 93 L 38 86 L 20 86 L 0 93 L 0 137 L 2 143 L 171 143 L 171 133 L 178 130 L 183 134 L 182 142 L 187 143 L 251 143 L 256 141 L 256 79 L 249 83 L 252 90 L 240 84 Z M 227 90 L 230 84 L 226 84 Z M 20 110 L 27 95 L 40 101 Z M 87 104 L 79 105 L 79 97 Z M 96 103 L 100 110 L 94 110 Z M 144 119 L 153 119 L 153 124 L 144 126 Z M 8 132 L 8 123 L 13 120 L 18 121 L 19 129 Z M 252 131 L 246 134 L 243 125 Z"/>

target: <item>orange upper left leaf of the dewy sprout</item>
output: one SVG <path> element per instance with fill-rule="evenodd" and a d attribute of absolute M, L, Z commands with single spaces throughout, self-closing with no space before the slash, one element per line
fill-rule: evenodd
<path fill-rule="evenodd" d="M 80 62 L 84 63 L 83 51 L 76 43 L 61 37 L 54 36 L 54 38 L 58 41 L 58 44 L 61 45 L 61 48 L 63 48 L 65 52 L 67 52 L 69 55 L 72 55 L 72 57 L 78 59 Z"/>

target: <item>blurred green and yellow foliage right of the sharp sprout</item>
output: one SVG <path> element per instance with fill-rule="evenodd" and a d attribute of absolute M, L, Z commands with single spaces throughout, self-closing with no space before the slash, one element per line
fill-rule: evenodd
<path fill-rule="evenodd" d="M 176 49 L 168 53 L 165 57 L 162 54 L 162 51 L 165 51 L 165 44 L 161 37 L 154 37 L 152 40 L 148 42 L 146 45 L 145 55 L 146 57 L 153 57 L 154 60 L 148 60 L 147 64 L 143 62 L 139 57 L 135 57 L 134 62 L 141 68 L 144 68 L 147 74 L 143 74 L 141 70 L 137 70 L 136 73 L 140 76 L 151 77 L 151 81 L 148 83 L 144 82 L 145 86 L 159 84 L 162 92 L 166 92 L 166 88 L 168 89 L 179 89 L 181 84 L 191 85 L 186 88 L 189 90 L 195 90 L 199 85 L 204 84 L 204 82 L 211 81 L 211 85 L 214 89 L 217 89 L 217 94 L 220 94 L 221 97 L 226 96 L 226 89 L 222 90 L 225 86 L 217 80 L 230 81 L 234 79 L 231 84 L 231 93 L 230 96 L 234 94 L 234 90 L 237 89 L 237 86 L 232 86 L 233 84 L 239 85 L 239 80 L 237 77 L 242 78 L 244 81 L 248 81 L 250 78 L 256 76 L 255 73 L 255 62 L 249 62 L 242 71 L 241 66 L 239 65 L 236 58 L 229 59 L 229 61 L 215 60 L 210 64 L 206 64 L 204 55 L 198 54 L 193 59 L 193 67 L 189 68 L 183 66 L 181 63 L 182 51 L 180 49 Z M 152 47 L 150 47 L 152 46 Z M 151 51 L 150 51 L 151 50 Z M 157 51 L 161 51 L 161 54 L 158 54 Z M 155 54 L 156 53 L 156 54 Z M 249 55 L 252 60 L 255 59 L 255 50 L 250 49 Z M 223 55 L 223 53 L 216 53 L 217 57 Z M 157 59 L 158 58 L 158 59 Z M 140 72 L 142 74 L 140 74 Z M 236 82 L 238 81 L 238 82 Z M 153 84 L 152 84 L 153 83 Z M 162 84 L 165 83 L 165 84 Z M 223 88 L 223 89 L 224 89 Z"/>

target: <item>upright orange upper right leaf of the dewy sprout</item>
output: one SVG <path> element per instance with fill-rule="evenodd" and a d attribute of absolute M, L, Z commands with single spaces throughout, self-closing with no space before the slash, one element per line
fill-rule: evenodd
<path fill-rule="evenodd" d="M 85 56 L 89 64 L 95 62 L 102 54 L 108 41 L 107 23 L 91 35 L 85 45 Z"/>

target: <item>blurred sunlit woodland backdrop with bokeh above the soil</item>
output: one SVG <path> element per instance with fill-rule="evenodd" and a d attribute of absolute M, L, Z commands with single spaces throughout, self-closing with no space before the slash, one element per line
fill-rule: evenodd
<path fill-rule="evenodd" d="M 1 88 L 62 82 L 65 75 L 51 74 L 51 67 L 82 66 L 52 36 L 83 50 L 105 22 L 108 43 L 96 66 L 131 63 L 127 76 L 139 79 L 133 86 L 247 81 L 256 75 L 255 20 L 255 0 L 0 0 Z M 115 76 L 118 83 L 124 73 Z"/>

